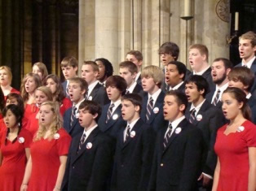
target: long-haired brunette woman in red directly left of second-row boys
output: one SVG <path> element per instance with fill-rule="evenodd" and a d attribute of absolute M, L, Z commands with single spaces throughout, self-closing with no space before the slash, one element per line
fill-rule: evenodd
<path fill-rule="evenodd" d="M 45 85 L 51 89 L 53 100 L 60 103 L 60 114 L 63 116 L 64 112 L 72 106 L 72 102 L 65 97 L 60 78 L 54 74 L 50 74 L 46 76 Z"/>

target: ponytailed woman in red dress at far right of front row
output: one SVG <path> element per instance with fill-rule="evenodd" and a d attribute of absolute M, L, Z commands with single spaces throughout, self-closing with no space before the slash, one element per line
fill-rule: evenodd
<path fill-rule="evenodd" d="M 245 93 L 238 88 L 223 92 L 223 114 L 229 124 L 218 129 L 214 150 L 218 162 L 213 191 L 256 189 L 256 126 Z"/>

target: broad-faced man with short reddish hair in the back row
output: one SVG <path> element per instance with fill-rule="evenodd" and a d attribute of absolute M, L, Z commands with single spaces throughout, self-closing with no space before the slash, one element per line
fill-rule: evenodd
<path fill-rule="evenodd" d="M 214 82 L 211 76 L 211 68 L 208 64 L 209 51 L 205 45 L 194 44 L 189 47 L 189 64 L 193 75 L 203 76 L 207 80 L 210 91 L 214 90 Z M 209 91 L 209 92 L 210 92 Z M 207 93 L 209 93 L 207 92 Z"/>

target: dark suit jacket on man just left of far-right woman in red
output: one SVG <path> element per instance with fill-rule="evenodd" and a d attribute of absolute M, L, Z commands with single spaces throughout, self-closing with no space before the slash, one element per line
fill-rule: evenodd
<path fill-rule="evenodd" d="M 189 120 L 191 103 L 188 105 L 185 112 L 186 118 Z M 210 102 L 205 102 L 201 106 L 196 116 L 201 116 L 194 120 L 193 125 L 196 128 L 201 129 L 204 138 L 204 158 L 202 165 L 202 171 L 210 176 L 214 176 L 214 170 L 217 163 L 217 155 L 214 152 L 214 144 L 218 128 L 221 128 L 226 120 L 223 117 L 222 111 L 215 106 L 211 105 Z"/>

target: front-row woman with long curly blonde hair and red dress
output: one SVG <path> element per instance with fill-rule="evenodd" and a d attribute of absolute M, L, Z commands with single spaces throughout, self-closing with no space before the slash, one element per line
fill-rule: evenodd
<path fill-rule="evenodd" d="M 59 105 L 43 102 L 21 191 L 59 191 L 71 137 L 62 127 Z"/>

